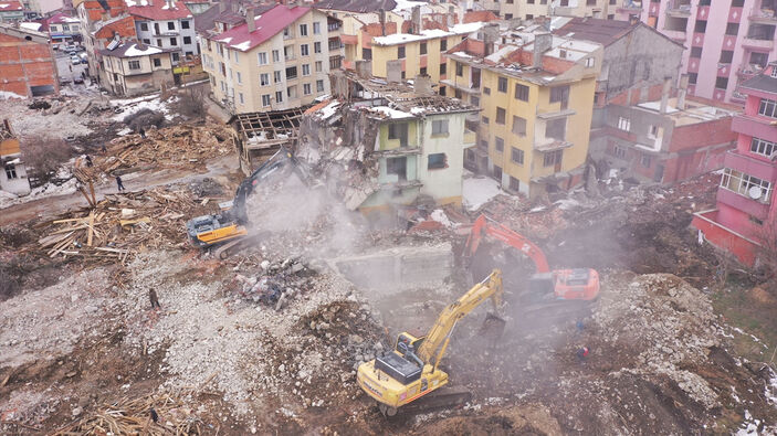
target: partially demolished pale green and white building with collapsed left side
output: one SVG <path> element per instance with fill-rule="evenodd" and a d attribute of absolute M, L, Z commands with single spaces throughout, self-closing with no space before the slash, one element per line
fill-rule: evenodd
<path fill-rule="evenodd" d="M 475 141 L 465 117 L 479 109 L 438 95 L 429 76 L 410 85 L 371 77 L 369 62 L 357 70 L 332 73 L 332 99 L 305 111 L 297 158 L 349 210 L 461 204 Z"/>

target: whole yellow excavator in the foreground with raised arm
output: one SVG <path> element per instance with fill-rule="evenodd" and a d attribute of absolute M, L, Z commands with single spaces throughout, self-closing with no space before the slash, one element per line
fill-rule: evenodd
<path fill-rule="evenodd" d="M 427 403 L 424 407 L 451 406 L 469 401 L 471 394 L 466 391 L 440 390 L 448 384 L 448 373 L 439 368 L 440 361 L 456 322 L 487 299 L 493 301 L 497 315 L 489 313 L 484 327 L 492 334 L 494 330 L 500 330 L 497 334 L 501 334 L 505 325 L 498 316 L 502 293 L 502 272 L 494 269 L 483 281 L 445 307 L 427 336 L 416 338 L 402 332 L 392 351 L 359 365 L 356 374 L 359 386 L 378 402 L 380 412 L 387 416 L 396 415 L 399 407 L 420 398 Z"/>

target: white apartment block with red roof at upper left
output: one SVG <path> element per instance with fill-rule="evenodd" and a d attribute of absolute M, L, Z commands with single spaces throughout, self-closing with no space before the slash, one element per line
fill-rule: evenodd
<path fill-rule="evenodd" d="M 195 17 L 182 1 L 127 0 L 129 14 L 135 18 L 139 42 L 171 52 L 177 64 L 181 56 L 199 54 Z"/>

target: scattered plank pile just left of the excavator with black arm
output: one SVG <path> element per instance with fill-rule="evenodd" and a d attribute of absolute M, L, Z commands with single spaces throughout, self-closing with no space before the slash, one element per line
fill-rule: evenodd
<path fill-rule="evenodd" d="M 38 244 L 49 257 L 124 263 L 145 247 L 180 245 L 186 219 L 200 211 L 187 192 L 165 188 L 106 195 L 92 210 L 54 220 Z"/>

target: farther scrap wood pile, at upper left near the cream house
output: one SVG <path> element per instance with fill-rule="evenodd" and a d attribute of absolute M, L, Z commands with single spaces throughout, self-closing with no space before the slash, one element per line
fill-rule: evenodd
<path fill-rule="evenodd" d="M 206 164 L 208 159 L 232 151 L 231 137 L 228 127 L 216 124 L 150 129 L 146 138 L 127 135 L 112 140 L 107 146 L 108 157 L 97 159 L 95 167 L 102 172 L 112 173 L 118 169 L 144 166 L 177 168 Z"/>

